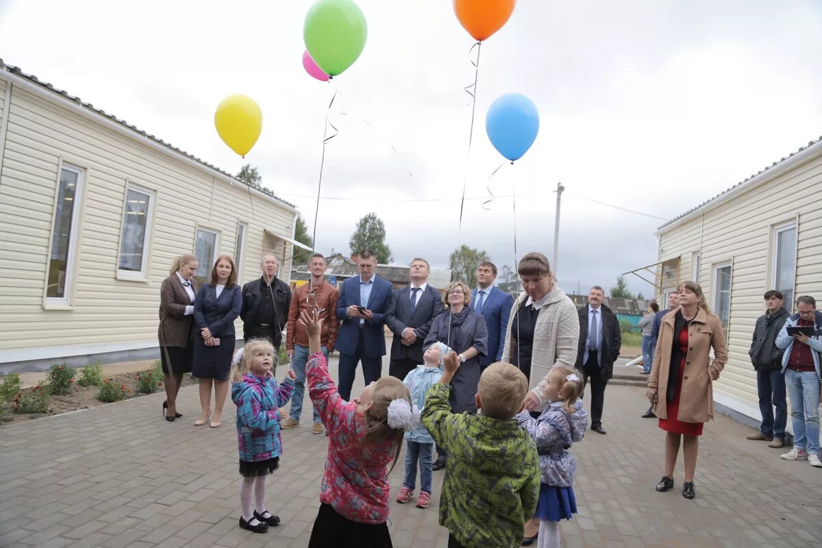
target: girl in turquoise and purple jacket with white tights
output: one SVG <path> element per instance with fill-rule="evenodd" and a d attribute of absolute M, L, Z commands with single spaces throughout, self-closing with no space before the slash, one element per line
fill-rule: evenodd
<path fill-rule="evenodd" d="M 237 441 L 240 449 L 240 527 L 266 532 L 279 518 L 266 510 L 266 476 L 279 466 L 279 408 L 288 403 L 296 375 L 289 369 L 277 384 L 271 368 L 274 347 L 266 339 L 252 339 L 242 349 L 231 371 L 231 399 L 237 405 Z M 236 361 L 236 360 L 235 360 Z M 252 492 L 254 496 L 252 504 Z"/>

